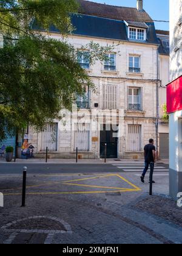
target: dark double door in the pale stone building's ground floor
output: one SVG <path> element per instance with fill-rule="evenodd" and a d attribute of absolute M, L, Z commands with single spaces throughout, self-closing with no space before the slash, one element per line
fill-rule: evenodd
<path fill-rule="evenodd" d="M 105 157 L 105 144 L 107 144 L 107 158 L 118 157 L 118 138 L 115 137 L 118 126 L 104 124 L 100 133 L 100 157 Z"/>

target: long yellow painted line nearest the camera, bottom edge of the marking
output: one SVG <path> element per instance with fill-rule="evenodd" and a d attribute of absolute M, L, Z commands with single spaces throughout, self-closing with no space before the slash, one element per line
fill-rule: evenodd
<path fill-rule="evenodd" d="M 116 192 L 134 192 L 134 191 L 138 191 L 138 190 L 107 190 L 107 191 L 78 191 L 78 192 L 35 192 L 35 193 L 26 193 L 27 195 L 32 195 L 32 196 L 38 196 L 38 195 L 54 195 L 54 194 L 103 194 L 103 193 L 116 193 Z M 4 196 L 21 196 L 21 193 L 13 193 L 13 194 L 4 194 Z"/>

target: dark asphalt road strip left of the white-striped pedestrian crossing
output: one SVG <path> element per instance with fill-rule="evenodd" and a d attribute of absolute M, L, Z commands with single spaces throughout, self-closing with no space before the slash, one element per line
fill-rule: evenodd
<path fill-rule="evenodd" d="M 29 174 L 58 174 L 58 173 L 99 173 L 99 172 L 123 172 L 111 164 L 0 164 L 0 174 L 21 174 L 24 166 L 27 166 L 27 173 Z"/>

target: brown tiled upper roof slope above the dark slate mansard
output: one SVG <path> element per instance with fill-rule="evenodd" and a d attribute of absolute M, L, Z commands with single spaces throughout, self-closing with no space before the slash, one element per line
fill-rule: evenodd
<path fill-rule="evenodd" d="M 152 18 L 143 10 L 136 8 L 120 7 L 107 4 L 98 4 L 96 2 L 77 0 L 80 4 L 80 13 L 110 18 L 113 20 L 153 22 Z"/>

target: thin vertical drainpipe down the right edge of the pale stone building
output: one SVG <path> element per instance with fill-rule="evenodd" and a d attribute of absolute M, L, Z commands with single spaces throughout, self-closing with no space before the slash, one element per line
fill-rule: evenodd
<path fill-rule="evenodd" d="M 159 47 L 157 49 L 157 83 L 156 83 L 156 104 L 157 104 L 157 115 L 156 115 L 156 148 L 157 148 L 157 160 L 158 160 L 158 150 L 159 150 L 159 141 L 158 141 L 158 127 L 159 127 L 159 88 L 158 88 L 158 80 L 159 80 Z"/>

